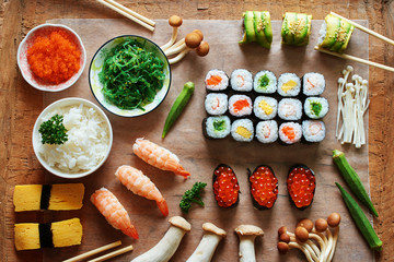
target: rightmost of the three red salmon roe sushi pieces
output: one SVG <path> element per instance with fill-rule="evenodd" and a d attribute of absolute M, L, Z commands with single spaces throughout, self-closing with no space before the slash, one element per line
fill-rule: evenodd
<path fill-rule="evenodd" d="M 311 168 L 305 165 L 290 167 L 287 178 L 287 188 L 290 202 L 299 210 L 304 210 L 312 204 L 316 189 L 316 179 Z"/>

